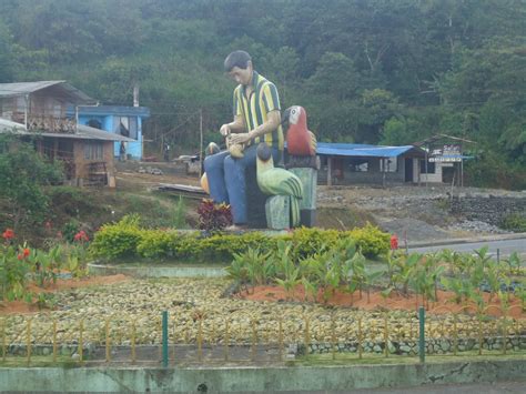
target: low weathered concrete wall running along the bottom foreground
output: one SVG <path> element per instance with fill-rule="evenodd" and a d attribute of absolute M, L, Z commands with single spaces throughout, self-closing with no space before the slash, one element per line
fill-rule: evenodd
<path fill-rule="evenodd" d="M 523 382 L 526 360 L 454 363 L 184 368 L 1 368 L 0 391 L 282 392 L 351 391 L 451 383 Z"/>

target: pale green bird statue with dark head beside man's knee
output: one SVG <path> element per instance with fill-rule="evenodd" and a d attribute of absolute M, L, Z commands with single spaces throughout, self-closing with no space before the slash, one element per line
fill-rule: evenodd
<path fill-rule="evenodd" d="M 257 185 L 263 193 L 291 196 L 291 225 L 299 225 L 302 182 L 292 172 L 274 166 L 271 149 L 264 142 L 257 145 L 256 173 Z"/>

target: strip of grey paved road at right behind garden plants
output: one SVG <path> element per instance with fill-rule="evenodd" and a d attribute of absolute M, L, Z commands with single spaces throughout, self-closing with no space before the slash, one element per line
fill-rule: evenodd
<path fill-rule="evenodd" d="M 443 249 L 451 249 L 456 252 L 473 252 L 483 246 L 489 246 L 489 253 L 494 256 L 499 253 L 500 256 L 509 255 L 512 252 L 518 252 L 522 255 L 526 254 L 526 239 L 518 240 L 499 240 L 499 241 L 484 241 L 484 242 L 467 242 L 467 243 L 452 243 L 433 246 L 409 247 L 409 252 L 434 252 Z M 497 252 L 498 251 L 498 252 Z"/>

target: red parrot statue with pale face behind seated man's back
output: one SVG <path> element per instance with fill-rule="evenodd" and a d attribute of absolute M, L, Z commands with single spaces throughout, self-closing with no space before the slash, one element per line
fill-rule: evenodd
<path fill-rule="evenodd" d="M 285 111 L 289 115 L 286 149 L 289 154 L 299 156 L 316 155 L 316 137 L 306 125 L 306 112 L 303 107 L 294 105 Z"/>

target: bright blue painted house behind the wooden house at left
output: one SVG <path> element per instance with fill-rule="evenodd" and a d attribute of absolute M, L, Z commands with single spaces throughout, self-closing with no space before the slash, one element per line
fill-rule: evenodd
<path fill-rule="evenodd" d="M 132 139 L 133 142 L 123 142 L 127 158 L 132 160 L 142 159 L 142 122 L 149 117 L 150 109 L 145 107 L 78 107 L 79 124 L 85 124 Z M 121 142 L 115 142 L 113 148 L 115 158 L 119 158 L 120 149 Z"/>

